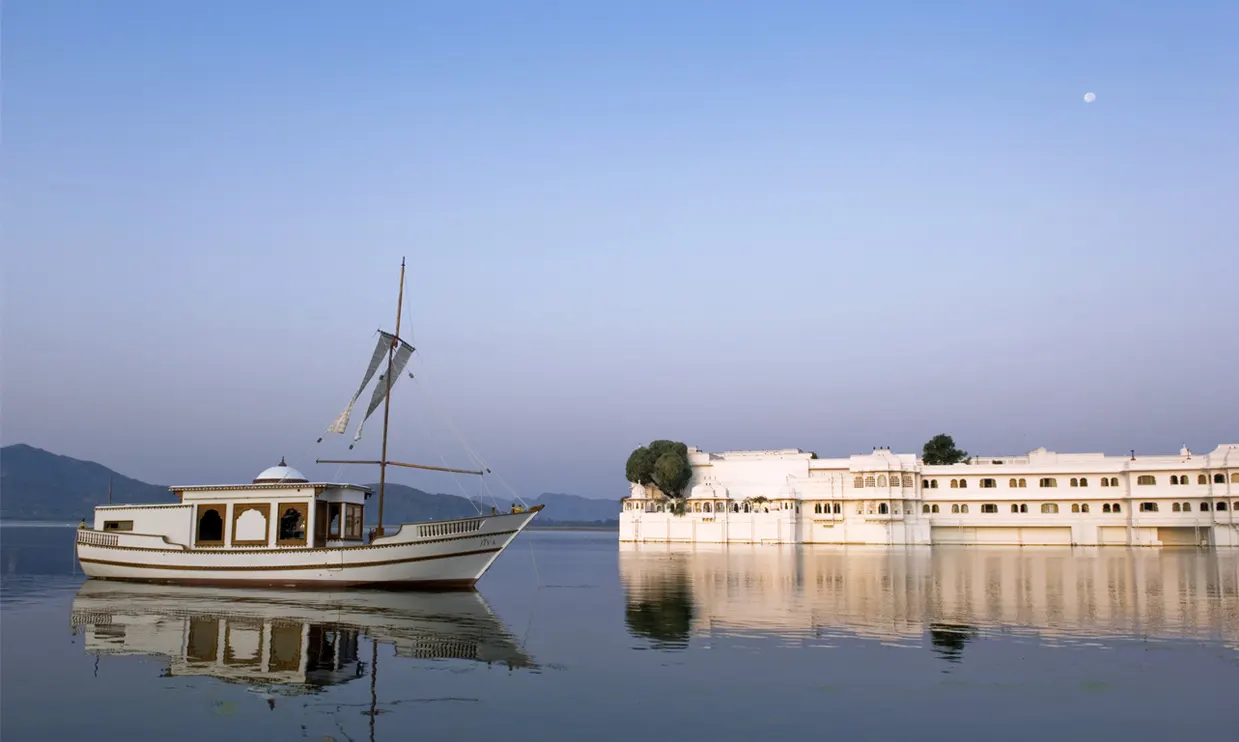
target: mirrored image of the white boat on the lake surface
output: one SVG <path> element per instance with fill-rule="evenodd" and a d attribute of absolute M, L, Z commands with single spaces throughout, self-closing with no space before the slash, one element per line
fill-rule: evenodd
<path fill-rule="evenodd" d="M 92 654 L 166 659 L 165 676 L 211 676 L 274 695 L 356 680 L 378 644 L 408 659 L 535 668 L 475 591 L 276 591 L 88 580 L 73 600 L 74 633 Z M 370 640 L 368 658 L 359 657 Z M 269 700 L 274 705 L 274 699 Z"/>

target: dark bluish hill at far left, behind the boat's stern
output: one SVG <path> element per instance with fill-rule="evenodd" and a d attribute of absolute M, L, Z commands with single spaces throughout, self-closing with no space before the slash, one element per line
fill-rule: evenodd
<path fill-rule="evenodd" d="M 0 448 L 0 518 L 89 519 L 95 505 L 107 504 L 109 479 L 113 502 L 176 502 L 166 487 L 118 474 L 102 463 L 14 443 Z"/>

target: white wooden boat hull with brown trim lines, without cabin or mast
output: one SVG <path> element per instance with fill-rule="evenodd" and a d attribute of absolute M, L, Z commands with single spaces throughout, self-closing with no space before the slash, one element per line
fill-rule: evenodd
<path fill-rule="evenodd" d="M 370 544 L 327 548 L 193 549 L 142 534 L 79 529 L 88 577 L 175 585 L 264 587 L 472 587 L 540 507 L 522 513 L 405 524 Z"/>

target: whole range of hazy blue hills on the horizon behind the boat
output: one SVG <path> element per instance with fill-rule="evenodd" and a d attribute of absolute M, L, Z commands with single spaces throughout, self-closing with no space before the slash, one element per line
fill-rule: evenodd
<path fill-rule="evenodd" d="M 0 448 L 0 519 L 4 520 L 66 520 L 92 519 L 93 508 L 108 502 L 108 482 L 115 503 L 175 503 L 166 487 L 139 482 L 119 474 L 93 461 L 82 461 L 14 443 Z M 378 492 L 378 483 L 368 484 Z M 527 499 L 530 505 L 546 505 L 533 525 L 593 525 L 617 526 L 620 504 L 575 494 L 546 493 Z M 431 494 L 405 484 L 388 483 L 383 498 L 385 524 L 467 518 L 491 512 L 492 503 L 455 494 Z M 499 498 L 497 507 L 506 510 L 512 500 Z M 370 497 L 366 523 L 378 523 L 378 500 Z"/>

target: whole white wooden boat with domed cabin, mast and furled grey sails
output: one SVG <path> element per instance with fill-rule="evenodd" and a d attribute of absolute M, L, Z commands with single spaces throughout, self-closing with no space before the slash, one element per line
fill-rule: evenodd
<path fill-rule="evenodd" d="M 177 502 L 100 504 L 94 523 L 84 522 L 76 539 L 77 560 L 88 578 L 175 585 L 385 590 L 461 590 L 473 587 L 504 549 L 543 509 L 513 503 L 489 512 L 478 505 L 468 518 L 383 525 L 389 466 L 484 477 L 476 469 L 405 463 L 388 458 L 393 384 L 414 348 L 400 337 L 405 264 L 394 332 L 379 338 L 366 374 L 344 410 L 327 427 L 343 434 L 361 394 L 383 357 L 387 373 L 374 383 L 366 420 L 383 405 L 383 447 L 378 460 L 316 458 L 317 463 L 379 467 L 378 525 L 364 533 L 369 487 L 310 481 L 282 458 L 249 483 L 173 486 Z M 413 374 L 410 374 L 411 377 Z M 318 437 L 321 443 L 323 436 Z M 519 499 L 519 498 L 518 498 Z M 110 497 L 109 497 L 110 500 Z"/>

